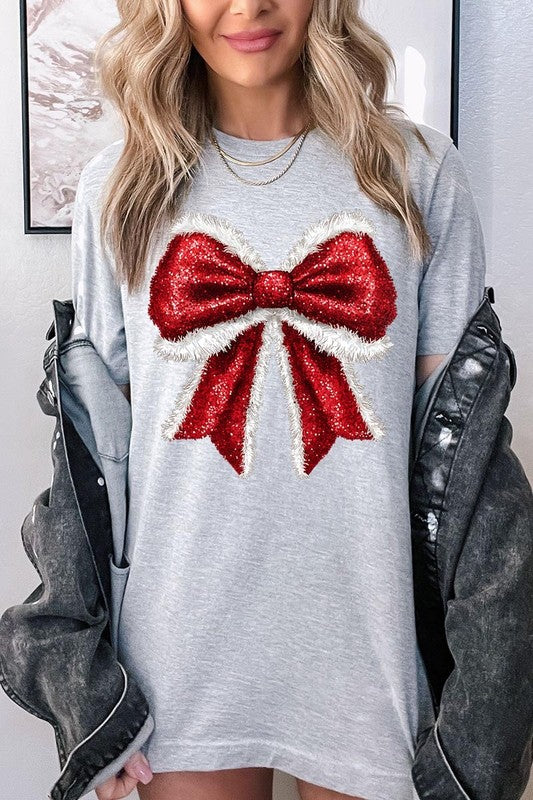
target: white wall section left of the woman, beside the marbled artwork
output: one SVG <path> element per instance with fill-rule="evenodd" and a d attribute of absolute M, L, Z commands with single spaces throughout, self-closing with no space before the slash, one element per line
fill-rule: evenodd
<path fill-rule="evenodd" d="M 69 237 L 23 233 L 18 8 L 2 5 L 0 25 L 0 607 L 21 602 L 38 585 L 20 538 L 22 519 L 50 484 L 52 419 L 35 393 L 42 380 L 44 335 L 53 297 L 69 296 Z M 50 725 L 0 692 L 0 796 L 46 797 L 59 761 Z M 8 735 L 9 734 L 9 735 Z"/>

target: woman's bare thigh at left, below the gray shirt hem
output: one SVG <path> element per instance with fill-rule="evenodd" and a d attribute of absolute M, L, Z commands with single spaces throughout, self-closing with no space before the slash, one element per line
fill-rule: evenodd
<path fill-rule="evenodd" d="M 272 800 L 272 767 L 154 772 L 140 800 Z"/>

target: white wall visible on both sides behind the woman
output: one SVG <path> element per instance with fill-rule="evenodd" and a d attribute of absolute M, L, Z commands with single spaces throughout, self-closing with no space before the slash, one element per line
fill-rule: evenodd
<path fill-rule="evenodd" d="M 508 416 L 513 447 L 533 475 L 530 431 L 533 390 L 532 168 L 533 12 L 529 0 L 463 3 L 460 149 L 470 167 L 487 241 L 488 283 L 518 362 Z M 0 610 L 37 585 L 20 526 L 36 494 L 49 485 L 52 419 L 35 392 L 42 379 L 44 335 L 52 298 L 70 296 L 69 237 L 24 235 L 18 9 L 4 8 L 0 27 L 0 395 L 3 533 Z M 17 800 L 44 797 L 58 774 L 51 727 L 0 692 L 0 793 Z M 9 735 L 7 735 L 9 732 Z M 276 775 L 278 800 L 292 787 Z M 90 796 L 95 797 L 94 795 Z M 525 796 L 533 800 L 533 787 Z M 524 798 L 524 800 L 525 800 Z"/>

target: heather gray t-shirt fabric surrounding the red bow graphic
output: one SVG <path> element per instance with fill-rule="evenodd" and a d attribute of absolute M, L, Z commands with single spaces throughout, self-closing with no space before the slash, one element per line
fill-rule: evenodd
<path fill-rule="evenodd" d="M 99 190 L 122 142 L 83 171 L 73 300 L 114 379 L 131 381 L 131 567 L 119 654 L 155 718 L 143 751 L 156 772 L 273 766 L 366 800 L 416 800 L 414 745 L 432 710 L 412 597 L 415 356 L 453 348 L 485 282 L 483 235 L 464 163 L 448 136 L 420 128 L 434 158 L 407 129 L 405 135 L 415 197 L 434 245 L 422 267 L 398 220 L 362 193 L 348 162 L 318 130 L 283 178 L 262 187 L 237 181 L 208 144 L 185 201 L 183 212 L 236 229 L 268 269 L 279 268 L 310 225 L 336 212 L 359 211 L 373 226 L 397 315 L 384 356 L 354 368 L 385 433 L 337 438 L 303 479 L 291 461 L 290 404 L 273 357 L 246 477 L 209 438 L 163 438 L 162 422 L 198 370 L 154 349 L 149 282 L 171 232 L 156 239 L 144 287 L 128 297 L 113 282 L 112 261 L 96 236 Z M 244 158 L 274 153 L 288 141 L 217 135 Z M 239 174 L 266 179 L 288 155 Z"/>

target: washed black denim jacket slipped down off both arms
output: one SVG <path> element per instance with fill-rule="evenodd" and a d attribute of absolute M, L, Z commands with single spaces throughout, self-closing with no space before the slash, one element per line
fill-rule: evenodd
<path fill-rule="evenodd" d="M 516 363 L 492 287 L 413 399 L 410 505 L 417 637 L 436 722 L 412 766 L 420 800 L 518 800 L 533 739 L 533 495 L 505 416 Z M 53 726 L 52 800 L 77 800 L 150 736 L 117 656 L 130 405 L 53 300 L 37 399 L 56 419 L 52 485 L 21 528 L 41 583 L 0 618 L 0 685 Z"/>

